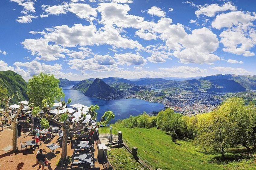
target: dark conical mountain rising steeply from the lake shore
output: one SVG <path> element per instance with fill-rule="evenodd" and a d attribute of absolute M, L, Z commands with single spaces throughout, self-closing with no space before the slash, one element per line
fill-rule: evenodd
<path fill-rule="evenodd" d="M 85 96 L 102 99 L 119 99 L 125 97 L 125 92 L 107 85 L 101 79 L 95 79 L 84 92 Z"/>

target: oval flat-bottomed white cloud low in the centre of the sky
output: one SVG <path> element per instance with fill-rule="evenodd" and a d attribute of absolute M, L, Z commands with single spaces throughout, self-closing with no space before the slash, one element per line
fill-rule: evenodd
<path fill-rule="evenodd" d="M 147 60 L 140 55 L 125 53 L 125 54 L 115 54 L 114 58 L 117 59 L 117 63 L 120 65 L 144 65 Z"/>

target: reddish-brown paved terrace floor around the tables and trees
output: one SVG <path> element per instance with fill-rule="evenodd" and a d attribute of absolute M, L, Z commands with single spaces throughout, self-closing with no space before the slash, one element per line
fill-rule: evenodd
<path fill-rule="evenodd" d="M 61 147 L 54 150 L 54 153 L 51 152 L 49 148 L 46 147 L 46 145 L 51 143 L 56 143 L 59 136 L 54 136 L 53 140 L 51 141 L 45 141 L 42 142 L 42 145 L 39 145 L 39 149 L 43 149 L 43 153 L 46 155 L 46 158 L 49 159 L 49 166 L 46 166 L 44 169 L 49 170 L 66 170 L 71 169 L 71 166 L 60 168 L 57 167 L 56 164 L 60 158 L 61 155 Z M 45 139 L 45 137 L 43 138 Z M 39 169 L 39 166 L 36 165 L 36 153 L 39 149 L 35 149 L 35 146 L 32 147 L 32 149 L 29 149 L 30 146 L 28 146 L 28 150 L 26 151 L 26 148 L 23 148 L 22 151 L 20 151 L 20 141 L 25 142 L 29 140 L 34 140 L 34 136 L 28 136 L 27 134 L 21 133 L 21 137 L 18 138 L 18 151 L 16 153 L 13 153 L 12 150 L 12 130 L 6 128 L 4 131 L 0 131 L 0 169 L 1 170 L 32 170 L 32 169 Z M 70 143 L 68 143 L 68 156 L 72 156 L 73 153 L 73 146 L 74 140 L 72 140 Z M 95 159 L 97 159 L 98 155 L 98 149 L 96 144 L 94 144 L 94 156 Z M 100 164 L 99 161 L 95 162 L 95 170 L 103 170 L 103 165 Z M 41 168 L 40 168 L 41 169 Z M 78 169 L 78 168 L 73 168 Z"/>

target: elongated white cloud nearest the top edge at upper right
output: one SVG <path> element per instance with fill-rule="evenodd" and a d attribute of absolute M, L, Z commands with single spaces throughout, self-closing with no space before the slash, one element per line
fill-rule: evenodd
<path fill-rule="evenodd" d="M 214 17 L 217 12 L 223 12 L 223 11 L 236 11 L 236 7 L 232 4 L 232 2 L 225 2 L 222 6 L 218 4 L 211 4 L 211 5 L 200 5 L 198 6 L 198 10 L 195 11 L 195 14 L 197 17 L 199 15 L 206 15 L 207 17 Z"/>

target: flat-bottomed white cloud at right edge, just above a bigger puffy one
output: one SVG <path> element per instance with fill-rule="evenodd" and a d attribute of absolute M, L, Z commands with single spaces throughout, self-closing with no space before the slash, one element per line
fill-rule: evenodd
<path fill-rule="evenodd" d="M 216 29 L 223 27 L 237 26 L 239 23 L 243 25 L 253 25 L 251 22 L 256 20 L 256 14 L 243 11 L 233 11 L 226 14 L 220 14 L 213 21 L 212 26 Z"/>

